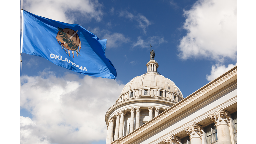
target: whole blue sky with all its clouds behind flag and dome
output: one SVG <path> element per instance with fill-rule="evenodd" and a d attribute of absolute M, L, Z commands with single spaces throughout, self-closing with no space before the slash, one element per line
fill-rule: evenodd
<path fill-rule="evenodd" d="M 24 0 L 23 9 L 108 39 L 106 57 L 117 78 L 85 76 L 23 54 L 21 144 L 105 143 L 105 112 L 126 83 L 146 72 L 149 44 L 158 72 L 184 97 L 237 63 L 236 1 Z"/>

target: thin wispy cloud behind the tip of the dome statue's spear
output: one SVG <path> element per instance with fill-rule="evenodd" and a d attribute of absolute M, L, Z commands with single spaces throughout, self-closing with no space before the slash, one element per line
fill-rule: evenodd
<path fill-rule="evenodd" d="M 149 48 L 151 44 L 153 47 L 158 47 L 161 43 L 167 42 L 164 37 L 153 36 L 149 37 L 146 42 L 139 36 L 137 42 L 133 43 L 133 47 Z"/>

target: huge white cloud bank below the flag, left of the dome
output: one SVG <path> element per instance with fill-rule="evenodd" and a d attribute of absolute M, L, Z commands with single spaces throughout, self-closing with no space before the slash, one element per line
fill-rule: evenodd
<path fill-rule="evenodd" d="M 124 85 L 115 80 L 67 73 L 56 77 L 22 76 L 20 107 L 33 118 L 20 117 L 20 143 L 90 143 L 106 139 L 105 113 Z"/>

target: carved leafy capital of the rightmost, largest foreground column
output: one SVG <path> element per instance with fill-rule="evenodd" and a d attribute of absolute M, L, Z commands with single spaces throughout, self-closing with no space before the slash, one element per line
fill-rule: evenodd
<path fill-rule="evenodd" d="M 230 115 L 229 111 L 221 108 L 219 111 L 215 111 L 213 114 L 209 115 L 209 118 L 214 122 L 214 126 L 218 126 L 219 124 L 226 124 L 229 126 L 230 123 Z"/>

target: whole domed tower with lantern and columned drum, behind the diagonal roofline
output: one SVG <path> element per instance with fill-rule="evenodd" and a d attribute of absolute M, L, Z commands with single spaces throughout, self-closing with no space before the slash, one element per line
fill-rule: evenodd
<path fill-rule="evenodd" d="M 107 143 L 128 135 L 183 99 L 174 82 L 157 71 L 154 59 L 146 66 L 147 72 L 128 82 L 106 112 Z"/>

